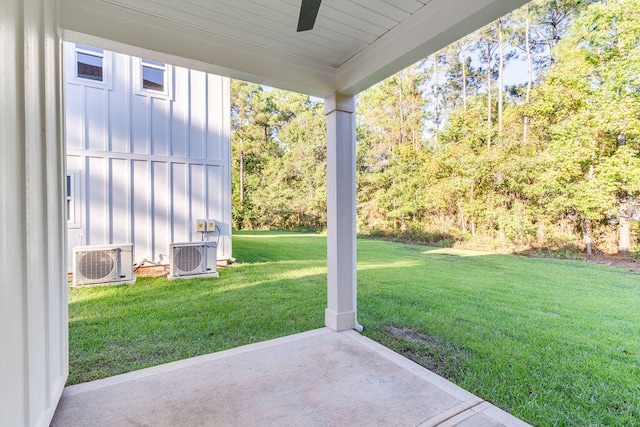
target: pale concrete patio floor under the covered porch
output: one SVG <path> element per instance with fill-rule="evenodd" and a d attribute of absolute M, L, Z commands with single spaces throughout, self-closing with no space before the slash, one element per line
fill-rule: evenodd
<path fill-rule="evenodd" d="M 327 328 L 65 389 L 52 426 L 526 426 L 355 331 Z"/>

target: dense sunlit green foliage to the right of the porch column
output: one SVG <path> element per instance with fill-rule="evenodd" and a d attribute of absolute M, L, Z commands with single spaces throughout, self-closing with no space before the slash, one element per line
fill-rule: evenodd
<path fill-rule="evenodd" d="M 611 218 L 626 212 L 618 208 L 621 202 L 639 194 L 640 8 L 635 0 L 591 3 L 529 6 L 534 54 L 544 53 L 535 50 L 541 44 L 553 51 L 547 59 L 538 58 L 538 67 L 546 68 L 531 100 L 506 99 L 501 133 L 495 117 L 498 90 L 488 98 L 483 93 L 489 86 L 487 77 L 470 79 L 476 86 L 467 92 L 464 105 L 447 110 L 437 144 L 421 144 L 410 162 L 396 149 L 387 151 L 387 169 L 359 168 L 361 228 L 401 235 L 405 218 L 410 218 L 412 226 L 423 231 L 469 231 L 472 245 L 494 249 L 561 250 L 593 240 L 602 250 L 611 250 L 604 244 L 616 231 L 610 227 Z M 513 42 L 524 40 L 517 34 L 524 28 L 518 25 L 523 16 L 516 12 L 501 22 Z M 498 29 L 489 26 L 466 42 L 479 49 L 485 74 L 499 59 Z M 464 53 L 459 49 L 464 43 L 441 56 L 450 61 L 447 69 L 454 79 L 460 78 Z M 498 72 L 492 71 L 492 78 Z M 469 74 L 482 73 L 477 69 Z M 459 84 L 447 87 L 461 90 Z M 364 111 L 372 108 L 361 104 Z M 489 107 L 494 114 L 488 131 Z M 527 138 L 524 117 L 529 118 Z M 375 117 L 363 120 L 368 129 L 376 129 Z M 393 134 L 381 135 L 389 142 Z M 369 161 L 372 164 L 376 163 Z"/>

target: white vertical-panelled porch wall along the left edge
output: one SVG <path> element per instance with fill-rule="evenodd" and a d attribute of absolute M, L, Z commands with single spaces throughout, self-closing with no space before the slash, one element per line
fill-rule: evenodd
<path fill-rule="evenodd" d="M 48 426 L 68 374 L 57 2 L 0 6 L 0 425 Z"/>

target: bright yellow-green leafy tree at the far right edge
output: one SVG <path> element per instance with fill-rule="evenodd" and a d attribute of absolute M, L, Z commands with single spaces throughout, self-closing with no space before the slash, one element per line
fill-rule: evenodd
<path fill-rule="evenodd" d="M 533 106 L 552 159 L 542 177 L 541 190 L 553 189 L 547 205 L 599 229 L 621 200 L 638 194 L 638 6 L 608 1 L 582 13 L 558 44 Z"/>

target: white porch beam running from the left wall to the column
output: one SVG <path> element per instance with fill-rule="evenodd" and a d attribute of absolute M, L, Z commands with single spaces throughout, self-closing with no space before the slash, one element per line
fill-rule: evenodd
<path fill-rule="evenodd" d="M 64 40 L 324 97 L 336 69 L 99 0 L 60 0 Z"/>

